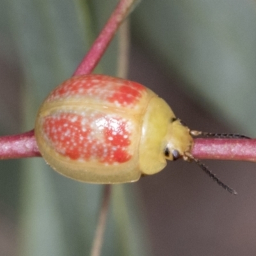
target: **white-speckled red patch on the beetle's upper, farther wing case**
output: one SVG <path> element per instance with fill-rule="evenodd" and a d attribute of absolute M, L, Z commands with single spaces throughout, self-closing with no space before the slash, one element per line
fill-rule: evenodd
<path fill-rule="evenodd" d="M 134 106 L 146 88 L 136 82 L 103 75 L 71 77 L 49 95 L 47 101 L 86 98 L 100 104 Z"/>

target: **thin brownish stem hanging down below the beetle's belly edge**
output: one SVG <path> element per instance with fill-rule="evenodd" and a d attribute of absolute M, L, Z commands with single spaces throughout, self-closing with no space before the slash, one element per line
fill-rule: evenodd
<path fill-rule="evenodd" d="M 108 216 L 109 199 L 111 195 L 111 185 L 104 186 L 103 201 L 100 209 L 100 216 L 97 224 L 97 230 L 93 239 L 91 256 L 99 256 L 103 244 L 104 232 Z"/>

